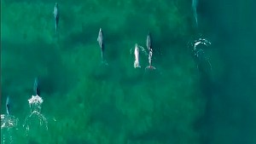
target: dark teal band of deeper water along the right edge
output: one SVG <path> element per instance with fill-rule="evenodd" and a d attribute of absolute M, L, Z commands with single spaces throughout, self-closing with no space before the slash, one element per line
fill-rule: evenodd
<path fill-rule="evenodd" d="M 207 107 L 195 128 L 201 132 L 204 144 L 256 143 L 255 4 L 255 1 L 199 4 L 201 14 L 210 21 L 210 32 L 218 36 L 215 44 L 225 65 L 224 76 L 218 81 L 202 76 Z"/>

